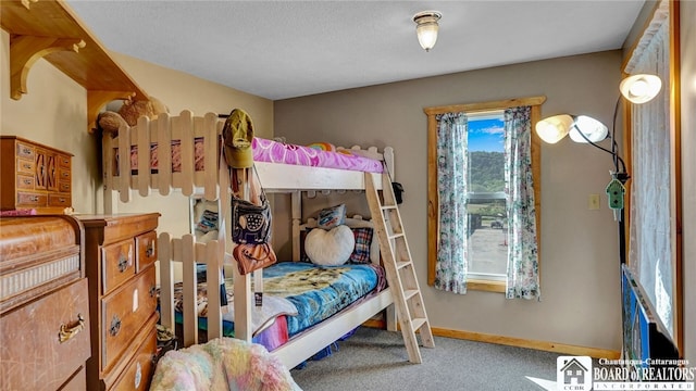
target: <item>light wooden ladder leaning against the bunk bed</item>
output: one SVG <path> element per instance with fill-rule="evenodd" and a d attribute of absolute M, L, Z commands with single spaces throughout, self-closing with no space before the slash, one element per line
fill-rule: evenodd
<path fill-rule="evenodd" d="M 396 305 L 397 319 L 411 363 L 422 362 L 419 342 L 421 335 L 425 348 L 435 348 L 430 320 L 421 289 L 418 285 L 413 260 L 406 239 L 401 215 L 391 188 L 391 179 L 385 167 L 382 175 L 382 191 L 377 190 L 374 178 L 365 174 L 365 193 L 370 213 L 380 239 L 380 251 Z"/>

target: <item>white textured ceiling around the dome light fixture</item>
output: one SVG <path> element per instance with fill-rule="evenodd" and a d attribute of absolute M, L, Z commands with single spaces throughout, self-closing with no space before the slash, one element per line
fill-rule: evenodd
<path fill-rule="evenodd" d="M 619 49 L 643 0 L 70 0 L 110 50 L 278 100 Z M 421 49 L 412 16 L 443 13 Z"/>

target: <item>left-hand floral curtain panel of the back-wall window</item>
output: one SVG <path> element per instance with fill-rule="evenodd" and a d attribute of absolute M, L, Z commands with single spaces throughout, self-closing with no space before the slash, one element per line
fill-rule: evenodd
<path fill-rule="evenodd" d="M 439 198 L 435 288 L 467 293 L 467 114 L 437 119 L 437 191 Z"/>

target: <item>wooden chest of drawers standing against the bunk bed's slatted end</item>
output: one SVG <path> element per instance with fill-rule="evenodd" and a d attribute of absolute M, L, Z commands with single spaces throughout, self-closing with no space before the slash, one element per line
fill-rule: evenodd
<path fill-rule="evenodd" d="M 88 390 L 148 390 L 157 354 L 159 213 L 77 215 L 85 226 Z"/>

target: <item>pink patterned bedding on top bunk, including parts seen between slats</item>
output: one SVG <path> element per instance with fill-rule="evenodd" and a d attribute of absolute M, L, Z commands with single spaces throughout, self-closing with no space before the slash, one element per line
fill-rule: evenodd
<path fill-rule="evenodd" d="M 324 151 L 310 147 L 288 144 L 284 142 L 266 140 L 256 137 L 252 143 L 253 160 L 257 162 L 283 163 L 293 165 L 304 165 L 312 167 L 327 167 L 338 169 L 359 171 L 368 173 L 382 173 L 382 162 L 364 157 L 356 152 L 344 150 L 340 152 Z M 203 171 L 203 140 L 197 138 L 194 141 L 195 169 Z M 215 151 L 215 153 L 217 153 Z M 119 149 L 114 148 L 116 159 L 114 168 L 119 169 Z M 182 171 L 181 141 L 172 140 L 172 172 Z M 157 173 L 159 166 L 157 143 L 150 146 L 150 169 Z M 130 169 L 132 174 L 138 171 L 138 147 L 130 147 Z"/>

